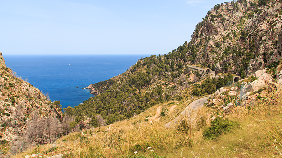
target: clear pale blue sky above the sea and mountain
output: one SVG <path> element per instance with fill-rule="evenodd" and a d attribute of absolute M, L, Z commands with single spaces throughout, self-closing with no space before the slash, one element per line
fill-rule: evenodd
<path fill-rule="evenodd" d="M 0 1 L 3 54 L 166 54 L 219 0 Z"/>

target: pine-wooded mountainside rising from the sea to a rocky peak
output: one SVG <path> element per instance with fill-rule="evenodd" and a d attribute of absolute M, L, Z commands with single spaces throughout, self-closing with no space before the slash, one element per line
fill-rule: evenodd
<path fill-rule="evenodd" d="M 274 68 L 281 58 L 281 7 L 278 0 L 217 4 L 196 25 L 190 42 L 165 55 L 141 58 L 123 74 L 88 86 L 97 96 L 65 108 L 65 114 L 92 119 L 94 127 L 101 124 L 95 119 L 100 115 L 110 124 L 164 101 L 212 94 L 234 75 L 245 78 L 265 67 Z M 208 74 L 193 72 L 187 64 L 229 74 L 223 80 L 198 84 Z M 193 91 L 187 89 L 191 86 Z"/>

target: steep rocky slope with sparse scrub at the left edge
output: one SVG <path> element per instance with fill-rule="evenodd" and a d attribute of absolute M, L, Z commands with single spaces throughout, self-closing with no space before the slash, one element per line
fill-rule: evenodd
<path fill-rule="evenodd" d="M 1 144 L 22 139 L 34 114 L 40 117 L 53 116 L 62 120 L 60 109 L 51 103 L 48 95 L 46 96 L 6 67 L 0 52 Z"/>

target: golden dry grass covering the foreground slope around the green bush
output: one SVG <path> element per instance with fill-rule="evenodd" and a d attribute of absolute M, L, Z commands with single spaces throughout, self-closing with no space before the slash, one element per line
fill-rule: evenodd
<path fill-rule="evenodd" d="M 270 87 L 251 110 L 236 107 L 229 113 L 202 108 L 194 114 L 181 116 L 175 128 L 167 129 L 165 122 L 171 116 L 162 116 L 160 121 L 145 122 L 147 116 L 154 116 L 157 106 L 132 119 L 118 121 L 112 126 L 95 128 L 81 133 L 72 133 L 58 140 L 57 150 L 67 146 L 73 153 L 65 157 L 125 157 L 149 156 L 154 150 L 160 156 L 171 158 L 192 157 L 282 157 L 282 93 L 279 86 Z M 167 104 L 167 103 L 165 103 Z M 183 107 L 185 102 L 176 104 Z M 177 108 L 175 108 L 177 110 Z M 179 108 L 180 109 L 180 108 Z M 206 113 L 219 115 L 236 121 L 240 126 L 222 134 L 217 141 L 205 140 L 202 131 L 209 124 Z M 110 127 L 110 131 L 105 131 Z M 35 147 L 15 157 L 44 153 L 50 145 Z M 183 151 L 181 150 L 183 148 Z"/>

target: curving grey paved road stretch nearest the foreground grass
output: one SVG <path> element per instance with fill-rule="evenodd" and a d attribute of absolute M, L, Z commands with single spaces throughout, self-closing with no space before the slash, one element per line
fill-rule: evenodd
<path fill-rule="evenodd" d="M 189 104 L 184 111 L 181 112 L 180 115 L 185 115 L 185 116 L 189 116 L 189 113 L 191 112 L 191 110 L 196 110 L 199 107 L 203 107 L 204 103 L 208 102 L 207 99 L 211 97 L 211 96 L 207 96 L 201 99 L 198 99 L 196 101 L 191 102 L 191 104 Z M 171 122 L 167 123 L 165 125 L 165 127 L 169 128 L 170 126 L 172 126 L 173 124 L 177 124 L 177 121 L 180 118 L 180 115 L 177 116 L 174 120 L 172 120 Z"/>

